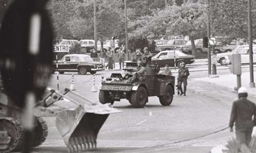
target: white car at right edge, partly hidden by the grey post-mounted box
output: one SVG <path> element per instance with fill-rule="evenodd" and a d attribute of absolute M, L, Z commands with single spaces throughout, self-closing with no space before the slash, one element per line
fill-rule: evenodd
<path fill-rule="evenodd" d="M 253 51 L 253 61 L 256 63 L 256 44 L 252 45 L 252 51 Z M 217 54 L 217 62 L 220 63 L 221 65 L 226 64 L 226 59 L 225 56 L 231 55 L 233 53 L 239 53 L 241 54 L 241 63 L 242 64 L 248 64 L 249 63 L 249 45 L 239 45 L 236 48 L 232 50 L 232 52 L 228 53 L 220 53 Z"/>

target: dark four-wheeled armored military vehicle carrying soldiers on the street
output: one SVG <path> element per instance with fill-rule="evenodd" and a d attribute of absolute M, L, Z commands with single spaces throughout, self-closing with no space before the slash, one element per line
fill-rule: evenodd
<path fill-rule="evenodd" d="M 123 68 L 127 78 L 132 77 L 136 71 L 137 64 L 126 62 Z M 121 73 L 112 73 L 111 77 L 102 80 L 99 91 L 99 101 L 101 104 L 120 101 L 120 99 L 129 100 L 135 108 L 142 108 L 148 102 L 148 96 L 158 96 L 161 105 L 169 106 L 172 104 L 175 77 L 172 75 L 158 74 L 159 68 L 155 65 L 146 65 L 145 75 L 129 82 L 127 78 L 122 77 Z"/>

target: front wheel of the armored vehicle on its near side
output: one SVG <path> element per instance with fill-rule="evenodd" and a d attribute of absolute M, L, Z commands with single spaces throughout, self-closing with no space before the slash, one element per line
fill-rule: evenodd
<path fill-rule="evenodd" d="M 136 108 L 142 108 L 147 102 L 147 91 L 144 87 L 139 87 L 137 91 L 132 92 L 131 104 Z"/>

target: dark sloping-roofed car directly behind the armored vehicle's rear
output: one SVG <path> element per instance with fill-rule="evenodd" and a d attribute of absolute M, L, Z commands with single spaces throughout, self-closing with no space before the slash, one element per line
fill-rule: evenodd
<path fill-rule="evenodd" d="M 191 64 L 195 62 L 195 56 L 184 54 L 178 50 L 165 50 L 161 51 L 152 57 L 152 63 L 155 65 L 159 65 L 160 67 L 164 67 L 164 65 L 169 65 L 174 67 L 176 61 L 176 66 L 180 67 L 181 62 L 185 62 L 185 64 Z"/>

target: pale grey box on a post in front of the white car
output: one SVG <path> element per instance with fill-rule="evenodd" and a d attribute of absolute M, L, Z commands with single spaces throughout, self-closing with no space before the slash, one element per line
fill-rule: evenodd
<path fill-rule="evenodd" d="M 233 53 L 225 57 L 226 63 L 228 64 L 229 70 L 233 74 L 241 75 L 241 55 Z"/>

